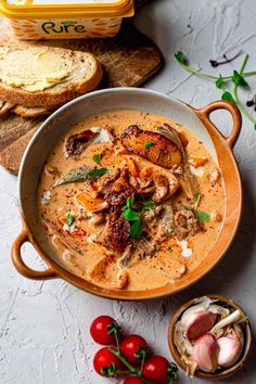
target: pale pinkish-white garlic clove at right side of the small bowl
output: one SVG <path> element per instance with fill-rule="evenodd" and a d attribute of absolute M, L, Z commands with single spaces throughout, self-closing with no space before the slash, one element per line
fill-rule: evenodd
<path fill-rule="evenodd" d="M 240 358 L 244 346 L 244 336 L 239 325 L 228 330 L 228 333 L 217 340 L 219 347 L 218 364 L 232 367 Z"/>

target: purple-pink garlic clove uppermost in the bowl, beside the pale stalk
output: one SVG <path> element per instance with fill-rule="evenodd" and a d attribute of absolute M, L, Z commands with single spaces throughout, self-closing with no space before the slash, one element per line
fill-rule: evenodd
<path fill-rule="evenodd" d="M 196 340 L 207 333 L 217 322 L 218 315 L 209 310 L 188 313 L 181 321 L 189 340 Z"/>

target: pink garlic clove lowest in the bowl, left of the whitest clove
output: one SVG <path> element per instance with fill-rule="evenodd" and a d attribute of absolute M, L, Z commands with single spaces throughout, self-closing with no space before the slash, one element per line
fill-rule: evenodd
<path fill-rule="evenodd" d="M 202 371 L 215 372 L 218 368 L 218 351 L 215 337 L 207 333 L 194 343 L 192 360 Z"/>

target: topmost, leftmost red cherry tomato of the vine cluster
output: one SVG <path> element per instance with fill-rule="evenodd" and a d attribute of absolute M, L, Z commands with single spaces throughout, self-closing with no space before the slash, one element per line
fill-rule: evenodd
<path fill-rule="evenodd" d="M 95 343 L 101 345 L 113 345 L 115 344 L 115 334 L 108 333 L 108 327 L 115 322 L 115 319 L 110 316 L 99 316 L 92 321 L 90 327 L 91 337 Z"/>

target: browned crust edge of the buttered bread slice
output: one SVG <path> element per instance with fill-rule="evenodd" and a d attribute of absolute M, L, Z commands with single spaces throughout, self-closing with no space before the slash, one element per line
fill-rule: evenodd
<path fill-rule="evenodd" d="M 29 49 L 29 48 L 28 48 Z M 71 55 L 82 54 L 80 51 L 65 50 L 62 48 L 51 48 L 57 52 L 68 52 Z M 73 85 L 68 84 L 68 87 L 61 90 L 53 90 L 51 88 L 43 91 L 29 92 L 21 88 L 13 88 L 0 82 L 0 99 L 14 105 L 22 105 L 28 108 L 43 106 L 49 110 L 56 108 L 60 104 L 65 104 L 67 101 L 75 99 L 84 93 L 94 90 L 102 78 L 102 67 L 99 60 L 91 53 L 84 53 L 87 57 L 94 63 L 94 68 L 90 76 L 84 81 Z"/>

